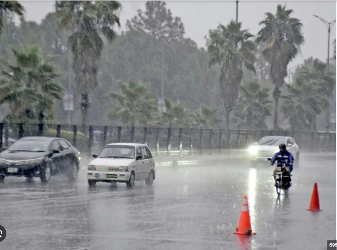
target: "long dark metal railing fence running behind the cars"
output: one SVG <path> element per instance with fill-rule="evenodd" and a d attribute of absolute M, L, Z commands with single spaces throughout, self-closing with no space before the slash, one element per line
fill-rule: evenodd
<path fill-rule="evenodd" d="M 265 135 L 292 137 L 303 151 L 336 151 L 336 133 L 0 123 L 0 148 L 23 136 L 55 136 L 91 154 L 113 142 L 145 143 L 154 154 L 245 149 Z"/>

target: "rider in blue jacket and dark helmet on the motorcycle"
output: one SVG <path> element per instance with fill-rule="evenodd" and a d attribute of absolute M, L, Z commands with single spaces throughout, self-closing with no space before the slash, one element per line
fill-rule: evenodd
<path fill-rule="evenodd" d="M 278 148 L 279 152 L 276 152 L 272 158 L 271 165 L 274 165 L 275 161 L 277 161 L 277 167 L 282 167 L 282 171 L 285 171 L 289 175 L 289 186 L 291 186 L 291 177 L 290 173 L 293 169 L 294 156 L 287 150 L 287 146 L 284 143 L 281 143 Z M 276 170 L 274 170 L 274 179 L 276 181 L 275 176 Z M 275 183 L 276 186 L 276 183 Z"/>

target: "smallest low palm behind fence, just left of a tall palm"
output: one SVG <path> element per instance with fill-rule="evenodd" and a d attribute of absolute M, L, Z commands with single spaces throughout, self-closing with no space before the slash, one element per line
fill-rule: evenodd
<path fill-rule="evenodd" d="M 194 113 L 194 124 L 203 128 L 212 128 L 220 120 L 216 119 L 218 109 L 201 105 Z"/>

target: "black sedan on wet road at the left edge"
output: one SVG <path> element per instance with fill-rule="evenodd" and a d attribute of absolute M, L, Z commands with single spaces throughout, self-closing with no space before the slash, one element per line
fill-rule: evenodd
<path fill-rule="evenodd" d="M 65 173 L 75 180 L 80 152 L 67 140 L 57 137 L 23 137 L 0 153 L 0 181 L 5 176 L 40 177 L 48 183 L 52 175 Z"/>

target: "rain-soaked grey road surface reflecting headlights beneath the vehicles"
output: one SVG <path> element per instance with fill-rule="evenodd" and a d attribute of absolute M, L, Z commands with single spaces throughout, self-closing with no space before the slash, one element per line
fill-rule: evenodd
<path fill-rule="evenodd" d="M 301 160 L 289 195 L 277 200 L 272 167 L 249 164 L 158 167 L 152 187 L 127 190 L 98 183 L 85 171 L 76 183 L 54 177 L 7 178 L 0 183 L 1 250 L 326 250 L 336 239 L 336 161 Z M 323 211 L 309 207 L 318 183 Z M 247 239 L 233 234 L 242 196 L 248 196 L 252 228 Z"/>

